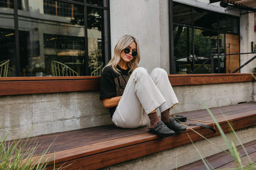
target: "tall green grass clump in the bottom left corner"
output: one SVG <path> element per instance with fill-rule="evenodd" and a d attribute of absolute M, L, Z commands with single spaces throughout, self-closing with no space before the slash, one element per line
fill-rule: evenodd
<path fill-rule="evenodd" d="M 35 159 L 33 156 L 36 156 L 38 146 L 33 143 L 33 140 L 27 138 L 25 140 L 6 141 L 9 134 L 10 132 L 3 139 L 0 137 L 0 169 L 41 170 L 46 168 L 54 156 L 45 157 L 51 145 L 42 153 L 39 159 Z M 64 168 L 60 167 L 59 169 Z"/>

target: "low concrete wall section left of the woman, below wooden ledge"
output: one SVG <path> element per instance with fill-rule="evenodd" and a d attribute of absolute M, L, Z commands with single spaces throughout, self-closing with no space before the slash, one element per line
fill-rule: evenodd
<path fill-rule="evenodd" d="M 0 137 L 26 138 L 110 124 L 99 91 L 0 97 Z"/>

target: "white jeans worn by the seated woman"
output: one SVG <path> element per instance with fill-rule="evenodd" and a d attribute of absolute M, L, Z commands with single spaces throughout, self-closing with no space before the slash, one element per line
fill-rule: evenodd
<path fill-rule="evenodd" d="M 138 67 L 129 78 L 112 121 L 120 128 L 138 128 L 149 124 L 148 115 L 159 107 L 162 113 L 179 101 L 163 69 L 148 72 Z"/>

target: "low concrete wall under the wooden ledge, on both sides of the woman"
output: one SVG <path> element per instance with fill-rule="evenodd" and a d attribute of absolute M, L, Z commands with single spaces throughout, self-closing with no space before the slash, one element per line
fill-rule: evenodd
<path fill-rule="evenodd" d="M 253 87 L 254 86 L 254 87 Z M 256 83 L 175 86 L 179 105 L 171 114 L 253 101 Z M 200 97 L 199 97 L 200 96 Z M 0 137 L 8 140 L 111 124 L 99 91 L 0 96 Z"/>

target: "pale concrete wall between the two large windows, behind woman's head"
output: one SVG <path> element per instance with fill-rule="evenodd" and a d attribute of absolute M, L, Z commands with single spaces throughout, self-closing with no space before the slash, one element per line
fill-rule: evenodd
<path fill-rule="evenodd" d="M 151 72 L 155 67 L 169 71 L 169 23 L 167 0 L 111 0 L 111 54 L 123 35 L 139 40 L 140 66 Z"/>

